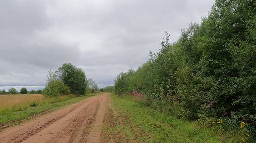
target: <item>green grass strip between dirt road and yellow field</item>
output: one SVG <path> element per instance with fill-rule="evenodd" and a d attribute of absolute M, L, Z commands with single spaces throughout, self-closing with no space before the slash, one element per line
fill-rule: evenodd
<path fill-rule="evenodd" d="M 6 107 L 0 110 L 0 128 L 5 128 L 13 124 L 18 124 L 20 120 L 27 119 L 33 115 L 59 109 L 60 107 L 77 103 L 86 98 L 98 95 L 100 93 L 91 93 L 84 96 L 75 97 L 72 95 L 59 96 L 52 98 L 42 98 L 38 101 L 21 103 L 12 107 Z"/>

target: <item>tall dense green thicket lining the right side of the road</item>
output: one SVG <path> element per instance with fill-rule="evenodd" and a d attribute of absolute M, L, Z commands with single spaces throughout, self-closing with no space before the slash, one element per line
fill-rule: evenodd
<path fill-rule="evenodd" d="M 227 119 L 255 133 L 255 0 L 216 0 L 200 25 L 182 30 L 173 44 L 166 32 L 161 47 L 136 71 L 117 75 L 116 94 L 136 90 L 178 117 Z"/>

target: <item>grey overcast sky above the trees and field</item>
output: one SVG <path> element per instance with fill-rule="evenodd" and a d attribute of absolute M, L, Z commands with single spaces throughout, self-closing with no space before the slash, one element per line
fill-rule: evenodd
<path fill-rule="evenodd" d="M 45 86 L 47 71 L 63 63 L 82 68 L 99 87 L 136 69 L 214 0 L 1 0 L 0 89 Z"/>

